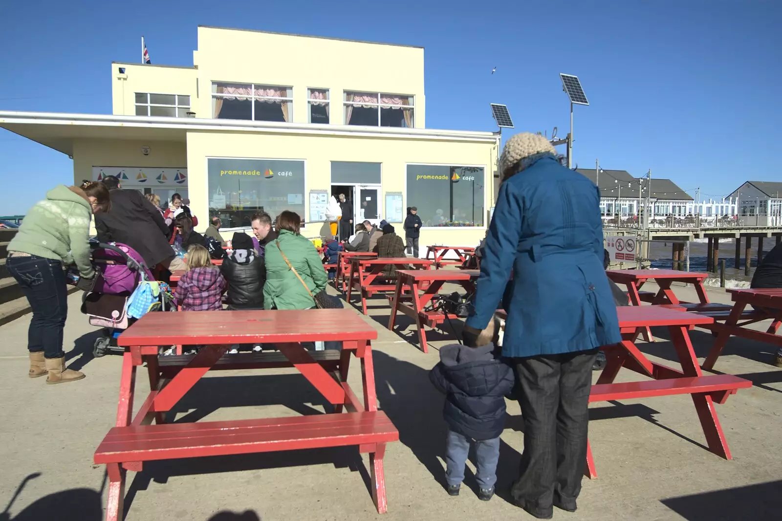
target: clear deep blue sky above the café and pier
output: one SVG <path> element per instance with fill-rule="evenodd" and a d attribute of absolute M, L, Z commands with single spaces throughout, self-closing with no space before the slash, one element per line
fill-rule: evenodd
<path fill-rule="evenodd" d="M 445 3 L 2 2 L 0 110 L 110 113 L 109 63 L 137 62 L 142 34 L 152 63 L 192 65 L 196 26 L 241 27 L 424 46 L 429 128 L 496 130 L 489 103 L 504 102 L 515 131 L 564 136 L 564 72 L 591 104 L 576 106 L 579 167 L 651 168 L 703 197 L 782 179 L 782 2 Z M 0 214 L 26 212 L 72 172 L 0 130 Z"/>

